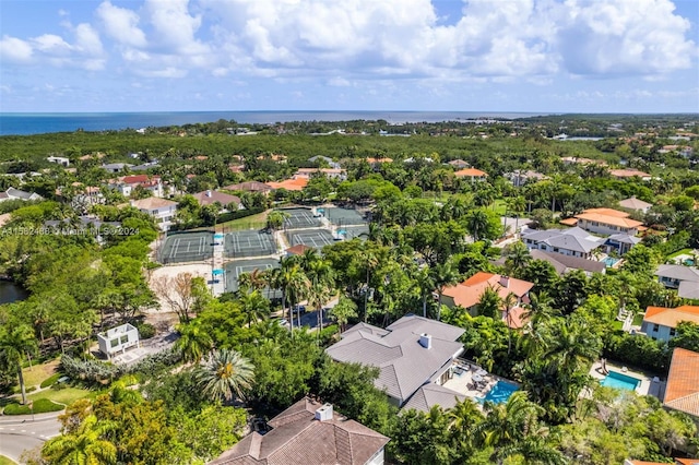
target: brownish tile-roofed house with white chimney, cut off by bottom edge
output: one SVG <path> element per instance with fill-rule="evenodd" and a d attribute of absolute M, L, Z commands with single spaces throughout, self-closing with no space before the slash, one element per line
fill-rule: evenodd
<path fill-rule="evenodd" d="M 383 465 L 383 434 L 305 397 L 210 465 Z"/>

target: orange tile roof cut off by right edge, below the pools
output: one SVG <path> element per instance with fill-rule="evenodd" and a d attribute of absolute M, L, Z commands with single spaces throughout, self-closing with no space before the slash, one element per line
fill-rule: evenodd
<path fill-rule="evenodd" d="M 663 406 L 699 418 L 699 354 L 675 348 L 665 383 Z"/>

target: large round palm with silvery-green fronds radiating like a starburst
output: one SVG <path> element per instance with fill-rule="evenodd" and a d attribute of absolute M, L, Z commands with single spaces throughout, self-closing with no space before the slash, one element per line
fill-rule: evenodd
<path fill-rule="evenodd" d="M 214 401 L 245 398 L 254 380 L 254 367 L 236 350 L 221 349 L 209 354 L 196 377 L 204 394 Z"/>

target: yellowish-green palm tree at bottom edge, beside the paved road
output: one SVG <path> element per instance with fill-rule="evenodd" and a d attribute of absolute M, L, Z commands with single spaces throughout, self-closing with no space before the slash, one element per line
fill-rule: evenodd
<path fill-rule="evenodd" d="M 48 441 L 42 449 L 42 455 L 49 463 L 59 465 L 116 464 L 117 446 L 103 439 L 105 432 L 114 428 L 112 422 L 98 422 L 97 417 L 90 415 L 74 433 Z"/>

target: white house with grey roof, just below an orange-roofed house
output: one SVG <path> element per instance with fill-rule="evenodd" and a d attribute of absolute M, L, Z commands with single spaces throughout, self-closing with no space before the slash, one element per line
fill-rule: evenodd
<path fill-rule="evenodd" d="M 602 247 L 604 239 L 591 236 L 587 230 L 571 229 L 524 229 L 522 241 L 529 250 L 560 253 L 562 255 L 591 259 Z"/>

